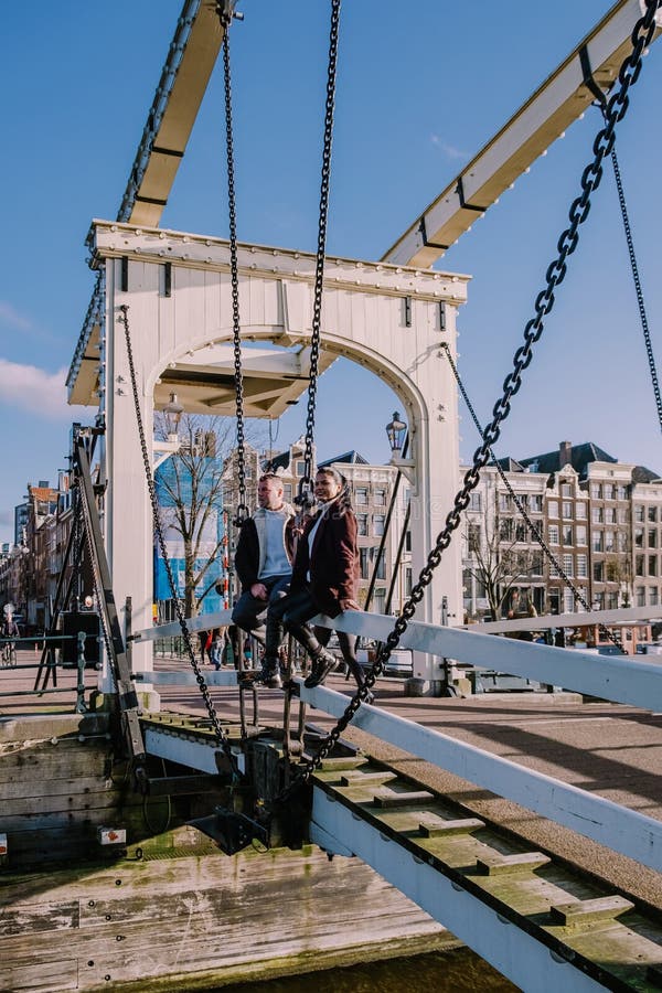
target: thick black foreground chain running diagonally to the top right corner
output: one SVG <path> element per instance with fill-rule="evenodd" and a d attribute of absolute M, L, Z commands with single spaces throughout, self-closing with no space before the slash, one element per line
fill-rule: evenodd
<path fill-rule="evenodd" d="M 533 359 L 533 345 L 541 338 L 544 330 L 544 318 L 554 306 L 554 290 L 565 279 L 567 265 L 566 259 L 576 249 L 579 242 L 579 225 L 581 225 L 590 210 L 590 196 L 600 185 L 602 179 L 602 160 L 609 154 L 615 140 L 615 127 L 621 120 L 628 109 L 629 97 L 628 90 L 637 79 L 641 72 L 642 53 L 650 43 L 654 30 L 654 17 L 656 9 L 662 0 L 648 0 L 649 7 L 645 14 L 639 19 L 632 31 L 632 52 L 623 60 L 619 71 L 618 90 L 610 98 L 607 107 L 607 116 L 605 127 L 598 132 L 594 141 L 594 159 L 585 168 L 581 174 L 581 194 L 573 201 L 569 210 L 570 226 L 560 235 L 557 249 L 557 257 L 549 264 L 545 274 L 546 286 L 535 298 L 534 310 L 535 317 L 532 318 L 524 328 L 524 344 L 521 345 L 513 357 L 513 370 L 508 374 L 503 383 L 503 393 L 494 404 L 492 420 L 483 431 L 483 442 L 473 455 L 473 465 L 465 473 L 465 482 L 462 488 L 457 492 L 452 510 L 446 517 L 444 530 L 438 534 L 435 547 L 429 552 L 427 564 L 419 573 L 415 586 L 407 601 L 405 602 L 402 613 L 396 619 L 393 631 L 388 634 L 385 642 L 382 643 L 375 662 L 371 671 L 365 676 L 365 682 L 359 687 L 350 703 L 348 704 L 342 717 L 339 718 L 335 726 L 329 732 L 317 752 L 306 761 L 303 761 L 297 770 L 296 777 L 291 780 L 289 787 L 284 790 L 275 800 L 274 804 L 281 803 L 287 800 L 291 793 L 307 782 L 316 769 L 329 756 L 340 736 L 345 730 L 362 701 L 364 701 L 376 680 L 384 671 L 384 666 L 391 653 L 399 644 L 401 638 L 406 631 L 409 621 L 416 613 L 418 604 L 423 600 L 426 588 L 433 579 L 433 573 L 441 562 L 444 552 L 450 545 L 453 533 L 461 524 L 461 515 L 469 505 L 470 493 L 479 483 L 480 471 L 487 465 L 492 447 L 499 440 L 501 435 L 501 424 L 508 417 L 511 408 L 513 396 L 522 386 L 522 373 L 528 367 Z"/>

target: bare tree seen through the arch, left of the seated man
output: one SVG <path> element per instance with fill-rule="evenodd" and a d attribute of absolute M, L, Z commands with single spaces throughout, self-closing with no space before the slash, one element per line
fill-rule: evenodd
<path fill-rule="evenodd" d="M 157 436 L 166 437 L 164 417 L 157 415 L 154 423 Z M 254 421 L 246 423 L 246 439 L 259 434 Z M 218 578 L 213 566 L 224 544 L 224 463 L 235 444 L 235 421 L 184 414 L 179 437 L 181 449 L 158 470 L 157 492 L 164 536 L 181 553 L 170 557 L 183 562 L 183 589 L 178 592 L 185 616 L 194 617 Z"/>

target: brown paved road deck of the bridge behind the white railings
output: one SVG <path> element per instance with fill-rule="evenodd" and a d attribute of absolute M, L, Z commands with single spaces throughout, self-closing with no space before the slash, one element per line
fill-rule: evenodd
<path fill-rule="evenodd" d="M 183 662 L 158 663 L 158 669 L 164 671 L 183 668 Z M 351 685 L 338 675 L 331 675 L 327 684 L 348 693 Z M 163 712 L 204 716 L 196 687 L 160 686 L 159 692 Z M 223 719 L 238 719 L 236 690 L 215 688 L 213 698 Z M 259 698 L 263 723 L 278 725 L 282 719 L 282 693 L 261 690 Z M 403 695 L 402 681 L 397 679 L 380 681 L 376 703 L 397 716 L 662 820 L 659 782 L 662 714 L 605 702 L 581 703 L 577 694 L 413 698 Z M 333 723 L 322 711 L 309 708 L 308 713 L 309 719 L 321 727 Z M 580 865 L 662 911 L 660 876 L 655 872 L 488 790 L 478 789 L 458 776 L 413 758 L 373 735 L 350 726 L 344 736 L 366 754 L 457 799 L 477 816 L 505 826 L 516 825 L 517 834 L 533 846 Z"/>

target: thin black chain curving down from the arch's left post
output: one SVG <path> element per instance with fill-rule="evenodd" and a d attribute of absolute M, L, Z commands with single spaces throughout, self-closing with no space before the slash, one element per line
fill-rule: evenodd
<path fill-rule="evenodd" d="M 154 485 L 154 478 L 151 470 L 151 465 L 149 460 L 149 452 L 147 450 L 147 441 L 145 439 L 145 427 L 142 424 L 142 414 L 140 412 L 140 399 L 138 396 L 138 384 L 136 381 L 136 367 L 134 365 L 134 349 L 131 346 L 131 334 L 129 330 L 129 317 L 128 311 L 129 308 L 126 303 L 122 303 L 119 308 L 120 310 L 120 321 L 124 324 L 125 329 L 125 338 L 127 343 L 127 357 L 129 362 L 129 375 L 131 377 L 131 391 L 134 394 L 134 405 L 136 407 L 136 420 L 138 423 L 138 434 L 140 436 L 140 449 L 142 452 L 142 462 L 145 466 L 145 476 L 147 479 L 147 489 L 149 492 L 149 500 L 152 509 L 152 519 L 154 524 L 154 531 L 157 533 L 157 540 L 159 542 L 159 547 L 161 549 L 161 558 L 163 560 L 163 565 L 166 567 L 166 574 L 168 576 L 168 584 L 170 586 L 170 591 L 172 594 L 172 599 L 174 602 L 174 609 L 177 612 L 177 619 L 179 621 L 179 626 L 182 631 L 182 637 L 184 639 L 184 644 L 186 647 L 186 653 L 189 655 L 189 662 L 191 663 L 191 669 L 195 673 L 195 681 L 200 687 L 200 692 L 202 694 L 202 698 L 204 700 L 204 704 L 207 709 L 207 714 L 210 716 L 210 720 L 212 723 L 212 727 L 216 735 L 216 740 L 218 746 L 223 749 L 227 759 L 232 766 L 233 777 L 238 779 L 241 773 L 237 766 L 236 757 L 234 756 L 229 739 L 227 735 L 224 733 L 221 727 L 221 722 L 218 719 L 218 715 L 216 713 L 216 708 L 214 707 L 214 703 L 212 701 L 212 696 L 210 693 L 210 687 L 204 681 L 204 676 L 200 671 L 200 666 L 197 664 L 197 660 L 195 658 L 195 650 L 193 649 L 193 642 L 191 641 L 191 632 L 189 631 L 189 627 L 186 624 L 186 619 L 184 617 L 184 612 L 182 610 L 180 598 L 178 595 L 177 584 L 174 581 L 174 576 L 172 574 L 172 566 L 170 565 L 170 557 L 168 555 L 168 549 L 166 547 L 166 538 L 163 536 L 163 530 L 161 527 L 161 520 L 159 514 L 159 502 L 157 500 L 157 489 Z"/>

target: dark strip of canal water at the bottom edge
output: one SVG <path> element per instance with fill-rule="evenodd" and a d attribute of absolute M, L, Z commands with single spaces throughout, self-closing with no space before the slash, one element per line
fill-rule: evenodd
<path fill-rule="evenodd" d="M 209 993 L 516 993 L 499 972 L 467 948 L 407 959 L 366 962 L 266 982 L 218 986 Z"/>

